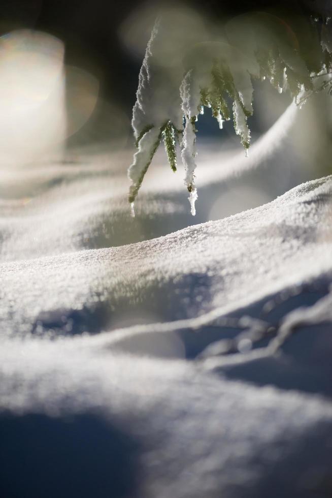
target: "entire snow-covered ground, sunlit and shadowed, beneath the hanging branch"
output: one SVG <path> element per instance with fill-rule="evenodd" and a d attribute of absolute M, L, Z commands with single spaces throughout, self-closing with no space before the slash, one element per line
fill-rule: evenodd
<path fill-rule="evenodd" d="M 134 219 L 131 151 L 1 172 L 0 496 L 331 494 L 332 178 L 257 180 L 293 112 L 203 147 L 196 219 L 162 155 Z"/>

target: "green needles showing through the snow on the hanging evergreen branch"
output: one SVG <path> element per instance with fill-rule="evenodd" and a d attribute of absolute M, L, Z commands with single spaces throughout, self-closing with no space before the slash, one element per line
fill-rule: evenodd
<path fill-rule="evenodd" d="M 313 79 L 322 75 L 322 68 L 325 67 L 326 74 L 328 74 L 332 69 L 332 54 L 330 54 L 327 50 L 322 50 L 319 54 L 320 43 L 318 43 L 317 45 L 318 48 L 314 47 L 320 57 L 315 56 L 316 52 L 314 53 L 314 55 L 312 55 L 311 52 L 309 55 L 307 54 L 308 60 L 306 59 L 306 57 L 303 58 L 306 66 L 304 66 L 303 70 L 300 69 L 299 72 L 291 69 L 288 64 L 286 64 L 285 60 L 283 60 L 277 42 L 272 42 L 271 45 L 269 48 L 266 46 L 260 46 L 255 51 L 255 58 L 259 66 L 259 77 L 261 79 L 268 79 L 270 83 L 279 91 L 280 89 L 284 88 L 284 83 L 286 80 L 290 93 L 292 97 L 295 98 L 297 105 L 303 104 L 310 95 L 326 87 L 328 87 L 329 94 L 332 95 L 332 83 L 330 79 L 328 79 L 327 81 L 323 81 L 319 88 L 317 88 L 317 85 L 313 84 Z M 302 54 L 300 49 L 296 49 L 295 52 L 296 55 Z M 253 78 L 252 75 L 251 78 Z M 306 92 L 304 92 L 302 95 L 303 88 L 306 90 Z M 231 112 L 227 105 L 228 100 L 233 102 L 233 119 L 235 131 L 240 136 L 243 147 L 247 150 L 250 145 L 250 131 L 247 128 L 247 118 L 252 115 L 252 112 L 248 111 L 245 108 L 240 98 L 239 90 L 235 85 L 233 75 L 226 61 L 224 60 L 223 55 L 220 54 L 220 58 L 217 57 L 213 61 L 211 67 L 211 82 L 209 86 L 201 88 L 200 90 L 200 105 L 197 107 L 197 114 L 202 112 L 203 107 L 210 107 L 212 110 L 212 115 L 216 119 L 218 119 L 218 121 L 220 121 L 220 116 L 224 120 L 229 120 Z M 242 116 L 241 110 L 238 106 L 241 107 L 241 110 L 243 112 Z M 240 112 L 240 116 L 238 117 L 238 120 L 240 120 L 240 122 L 238 123 L 236 122 L 236 110 L 237 112 Z M 193 130 L 196 133 L 195 121 L 196 116 L 193 116 L 191 118 L 191 123 Z M 152 128 L 152 125 L 148 125 L 142 130 L 136 140 L 137 147 L 139 147 L 140 141 L 145 136 L 145 134 L 148 133 Z M 154 153 L 159 146 L 161 138 L 164 143 L 165 151 L 167 153 L 171 169 L 173 171 L 177 170 L 176 141 L 181 143 L 182 134 L 183 130 L 176 129 L 171 120 L 168 120 L 163 124 L 162 127 L 160 127 L 158 138 L 149 151 L 149 160 L 144 170 L 142 170 L 139 180 L 135 184 L 132 184 L 130 187 L 130 202 L 134 202 L 138 194 L 144 175 L 151 163 Z M 194 186 L 192 183 L 187 185 L 187 189 L 189 192 L 192 192 L 193 188 Z"/>

